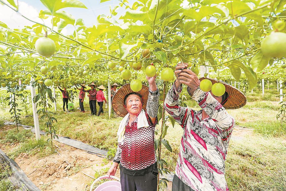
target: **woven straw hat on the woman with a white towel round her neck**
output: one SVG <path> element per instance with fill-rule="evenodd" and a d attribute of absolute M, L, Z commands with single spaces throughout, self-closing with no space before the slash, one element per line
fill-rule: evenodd
<path fill-rule="evenodd" d="M 127 94 L 130 94 L 134 91 L 131 90 L 130 84 L 125 84 L 114 94 L 112 99 L 112 108 L 117 115 L 120 117 L 124 117 L 128 112 L 124 107 L 124 98 Z M 142 89 L 139 92 L 136 92 L 142 96 L 143 106 L 142 109 L 146 110 L 149 88 L 142 84 Z"/>

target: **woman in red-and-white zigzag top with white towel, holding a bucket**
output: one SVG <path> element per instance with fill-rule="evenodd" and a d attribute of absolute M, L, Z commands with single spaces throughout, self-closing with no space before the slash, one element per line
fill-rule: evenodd
<path fill-rule="evenodd" d="M 146 76 L 149 88 L 142 85 L 139 92 L 133 92 L 130 84 L 125 84 L 112 100 L 114 111 L 124 118 L 117 132 L 118 148 L 108 175 L 114 175 L 120 163 L 122 190 L 157 189 L 154 132 L 160 94 L 155 78 Z"/>

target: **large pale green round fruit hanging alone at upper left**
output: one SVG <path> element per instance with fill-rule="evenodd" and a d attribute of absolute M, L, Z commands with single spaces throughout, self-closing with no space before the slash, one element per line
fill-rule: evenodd
<path fill-rule="evenodd" d="M 36 40 L 35 48 L 41 56 L 49 57 L 55 53 L 55 42 L 47 37 Z"/>

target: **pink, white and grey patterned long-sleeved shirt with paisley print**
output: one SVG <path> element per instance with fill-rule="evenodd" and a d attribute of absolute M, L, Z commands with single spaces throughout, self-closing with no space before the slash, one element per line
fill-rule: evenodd
<path fill-rule="evenodd" d="M 178 105 L 181 91 L 173 84 L 164 102 L 184 130 L 175 174 L 195 191 L 228 191 L 225 157 L 235 120 L 210 92 L 197 88 L 192 99 L 210 116 L 202 120 L 202 110 Z"/>

